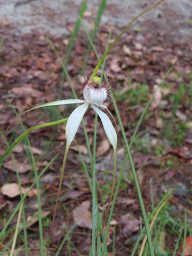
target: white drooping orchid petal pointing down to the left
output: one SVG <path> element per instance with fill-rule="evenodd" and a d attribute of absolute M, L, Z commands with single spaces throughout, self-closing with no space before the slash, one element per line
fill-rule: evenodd
<path fill-rule="evenodd" d="M 70 143 L 73 141 L 77 129 L 88 107 L 89 104 L 84 103 L 83 105 L 74 109 L 74 111 L 70 114 L 66 124 L 67 147 L 69 147 Z"/>

